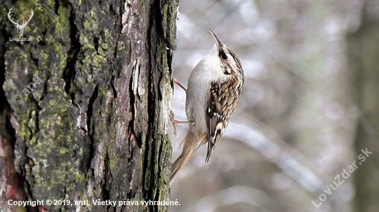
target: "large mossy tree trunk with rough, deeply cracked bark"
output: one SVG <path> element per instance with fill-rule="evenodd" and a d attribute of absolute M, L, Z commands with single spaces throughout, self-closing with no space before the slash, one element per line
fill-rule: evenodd
<path fill-rule="evenodd" d="M 167 211 L 140 201 L 170 195 L 167 116 L 178 1 L 1 5 L 1 209 Z M 5 18 L 12 7 L 14 21 L 34 11 L 23 33 L 30 42 L 10 41 L 18 37 Z M 139 205 L 94 205 L 98 199 Z M 45 202 L 14 207 L 8 200 Z"/>

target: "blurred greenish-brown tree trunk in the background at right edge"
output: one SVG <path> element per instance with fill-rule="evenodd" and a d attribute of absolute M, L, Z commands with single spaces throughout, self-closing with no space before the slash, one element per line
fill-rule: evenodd
<path fill-rule="evenodd" d="M 357 156 L 365 156 L 361 150 L 372 152 L 367 154 L 365 161 L 360 161 L 359 168 L 354 172 L 355 211 L 369 212 L 379 209 L 379 21 L 373 19 L 373 10 L 371 14 L 369 11 L 370 8 L 375 8 L 374 4 L 365 2 L 362 24 L 348 36 L 348 56 L 354 97 L 360 110 L 356 136 Z"/>

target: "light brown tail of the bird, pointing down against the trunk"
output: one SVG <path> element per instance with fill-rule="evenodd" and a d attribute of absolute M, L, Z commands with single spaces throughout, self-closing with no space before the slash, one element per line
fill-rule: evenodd
<path fill-rule="evenodd" d="M 196 139 L 194 136 L 194 133 L 192 132 L 192 130 L 188 130 L 187 134 L 185 135 L 182 141 L 184 143 L 182 153 L 180 156 L 178 156 L 175 162 L 172 163 L 172 169 L 171 169 L 172 172 L 171 172 L 170 182 L 176 176 L 176 174 L 178 174 L 181 171 L 185 163 L 187 163 L 189 158 L 191 158 L 191 156 L 198 149 L 196 148 L 194 150 L 192 148 L 193 143 L 196 142 L 194 139 Z"/>

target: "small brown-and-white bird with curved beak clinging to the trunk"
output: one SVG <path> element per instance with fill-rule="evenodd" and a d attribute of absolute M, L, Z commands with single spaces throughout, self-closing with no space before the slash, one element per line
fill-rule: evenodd
<path fill-rule="evenodd" d="M 211 30 L 208 31 L 216 45 L 189 75 L 185 99 L 189 129 L 182 140 L 182 153 L 172 164 L 170 181 L 205 143 L 208 143 L 205 158 L 208 163 L 243 89 L 245 75 L 240 60 L 232 49 L 221 43 Z"/>

